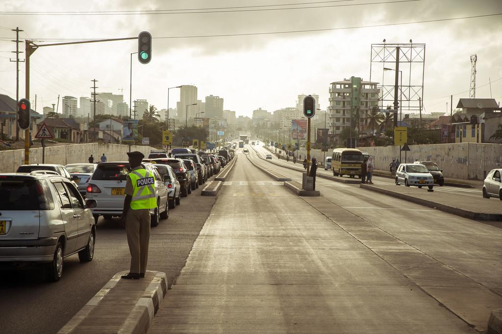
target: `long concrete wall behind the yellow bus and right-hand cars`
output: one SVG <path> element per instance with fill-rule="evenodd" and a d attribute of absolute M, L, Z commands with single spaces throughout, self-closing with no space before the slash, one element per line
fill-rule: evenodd
<path fill-rule="evenodd" d="M 361 151 L 374 157 L 376 169 L 388 170 L 392 159 L 399 158 L 399 146 L 359 147 Z M 486 173 L 502 166 L 501 144 L 455 143 L 434 145 L 410 145 L 406 162 L 416 159 L 434 161 L 443 170 L 445 177 L 483 180 Z M 333 150 L 326 152 L 330 156 Z M 307 156 L 305 149 L 298 152 L 302 160 Z M 320 162 L 324 152 L 311 150 L 311 157 Z M 401 162 L 405 162 L 405 152 L 401 152 Z"/>

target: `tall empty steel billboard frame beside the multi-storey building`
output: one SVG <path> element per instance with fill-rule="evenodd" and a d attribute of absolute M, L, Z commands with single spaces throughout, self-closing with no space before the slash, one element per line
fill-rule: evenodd
<path fill-rule="evenodd" d="M 424 70 L 425 44 L 386 44 L 385 40 L 383 44 L 371 44 L 369 81 L 382 71 L 381 109 L 393 106 L 399 110 L 400 120 L 402 111 L 422 112 Z M 386 76 L 386 72 L 394 75 Z"/>

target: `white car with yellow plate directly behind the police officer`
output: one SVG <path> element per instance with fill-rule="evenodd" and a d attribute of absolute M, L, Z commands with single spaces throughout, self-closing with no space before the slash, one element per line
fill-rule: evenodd
<path fill-rule="evenodd" d="M 155 192 L 157 207 L 150 210 L 152 226 L 157 226 L 159 220 L 169 217 L 168 192 L 159 171 L 154 164 L 143 163 L 146 169 L 152 171 L 155 177 Z M 104 219 L 119 217 L 124 206 L 124 191 L 126 189 L 127 175 L 131 172 L 129 162 L 102 162 L 96 167 L 87 183 L 85 198 L 95 199 L 97 206 L 92 208 L 94 219 L 99 216 Z"/>

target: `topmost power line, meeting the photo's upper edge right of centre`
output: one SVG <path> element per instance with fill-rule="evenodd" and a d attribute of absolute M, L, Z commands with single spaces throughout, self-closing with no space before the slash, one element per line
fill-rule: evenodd
<path fill-rule="evenodd" d="M 217 11 L 197 11 L 197 12 L 0 12 L 3 15 L 40 15 L 40 16 L 98 16 L 98 15 L 174 15 L 174 14 L 208 14 L 208 13 L 236 13 L 236 12 L 264 12 L 264 11 L 287 11 L 300 9 L 314 8 L 333 8 L 333 7 L 351 7 L 351 6 L 366 6 L 366 5 L 382 5 L 395 3 L 410 3 L 422 0 L 397 0 L 383 1 L 377 3 L 362 3 L 362 4 L 345 4 L 345 5 L 329 5 L 329 6 L 306 6 L 306 7 L 290 7 L 290 8 L 264 8 L 264 9 L 237 9 L 237 10 L 217 10 Z"/>

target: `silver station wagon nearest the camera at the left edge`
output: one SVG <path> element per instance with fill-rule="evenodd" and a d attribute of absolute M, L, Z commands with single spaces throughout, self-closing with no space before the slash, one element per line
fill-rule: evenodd
<path fill-rule="evenodd" d="M 64 258 L 92 261 L 96 229 L 74 183 L 54 171 L 0 174 L 2 268 L 41 264 L 50 281 L 63 273 Z"/>

